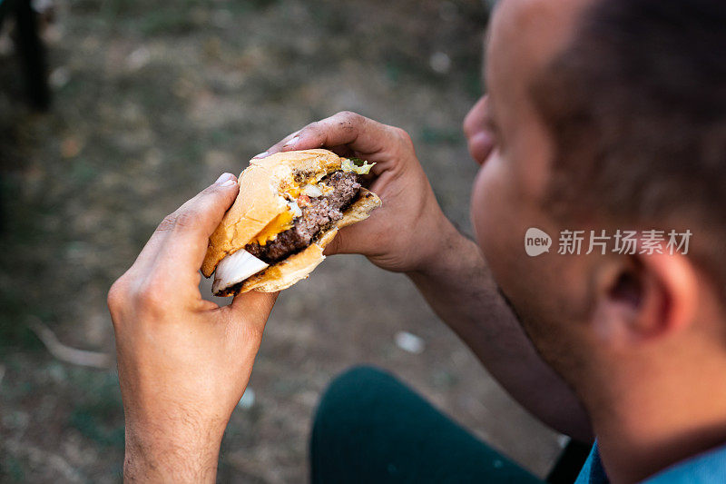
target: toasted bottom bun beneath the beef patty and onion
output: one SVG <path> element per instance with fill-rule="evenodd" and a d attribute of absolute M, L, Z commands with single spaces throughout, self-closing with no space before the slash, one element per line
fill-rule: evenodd
<path fill-rule="evenodd" d="M 320 235 L 317 242 L 313 242 L 304 251 L 291 255 L 284 261 L 271 265 L 264 271 L 250 276 L 246 281 L 222 290 L 216 295 L 231 296 L 252 290 L 260 292 L 282 291 L 295 282 L 306 279 L 310 272 L 313 272 L 318 264 L 325 260 L 323 250 L 333 240 L 338 230 L 366 220 L 370 212 L 373 212 L 380 204 L 380 199 L 376 193 L 361 188 L 358 200 L 348 207 L 348 210 L 343 213 L 343 218 L 334 227 Z"/>

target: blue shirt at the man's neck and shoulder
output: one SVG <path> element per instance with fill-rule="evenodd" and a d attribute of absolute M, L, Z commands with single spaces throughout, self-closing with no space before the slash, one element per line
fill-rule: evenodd
<path fill-rule="evenodd" d="M 607 482 L 610 481 L 605 475 L 603 462 L 597 451 L 597 442 L 595 442 L 574 484 L 606 484 Z M 726 482 L 726 445 L 673 464 L 643 482 L 646 484 Z"/>

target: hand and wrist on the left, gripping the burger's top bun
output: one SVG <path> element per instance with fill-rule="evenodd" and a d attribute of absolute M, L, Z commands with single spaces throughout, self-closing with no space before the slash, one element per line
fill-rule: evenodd
<path fill-rule="evenodd" d="M 127 480 L 215 479 L 222 434 L 277 297 L 250 291 L 226 307 L 201 298 L 207 242 L 238 190 L 226 173 L 167 216 L 109 291 Z"/>

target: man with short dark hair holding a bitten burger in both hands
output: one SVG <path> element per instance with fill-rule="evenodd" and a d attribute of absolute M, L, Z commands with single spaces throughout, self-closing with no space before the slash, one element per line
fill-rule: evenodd
<path fill-rule="evenodd" d="M 407 273 L 527 410 L 576 439 L 595 435 L 583 482 L 726 479 L 723 25 L 717 0 L 503 0 L 488 35 L 488 94 L 464 125 L 482 165 L 471 207 L 478 246 L 446 221 L 397 128 L 341 113 L 267 152 L 327 146 L 378 163 L 372 188 L 383 207 L 340 232 L 329 252 Z M 223 175 L 167 217 L 109 294 L 128 479 L 214 478 L 275 300 L 247 293 L 217 308 L 197 289 L 207 238 L 235 186 Z M 633 230 L 635 250 L 564 245 L 530 257 L 523 241 L 533 227 L 562 234 L 555 244 Z M 653 242 L 652 230 L 690 232 L 690 246 L 668 251 L 667 237 Z M 413 458 L 395 452 L 416 454 L 427 471 L 451 471 L 430 480 L 456 469 L 466 469 L 462 480 L 497 479 L 473 469 L 476 456 L 491 458 L 482 468 L 504 469 L 502 479 L 531 479 L 477 450 L 396 380 L 354 376 L 361 382 L 350 409 L 365 425 L 341 411 L 329 417 L 338 404 L 351 413 L 350 399 L 336 396 L 351 378 L 334 383 L 315 424 L 314 479 L 411 479 Z M 388 410 L 379 394 L 391 395 L 396 411 L 410 404 L 430 435 L 407 440 L 415 422 L 371 417 Z M 397 448 L 377 457 L 361 430 Z M 333 469 L 325 452 L 336 449 L 358 455 L 334 453 Z"/>

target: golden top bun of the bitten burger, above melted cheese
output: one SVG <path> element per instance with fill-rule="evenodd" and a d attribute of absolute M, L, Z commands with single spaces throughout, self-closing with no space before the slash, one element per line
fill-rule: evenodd
<path fill-rule="evenodd" d="M 211 234 L 201 272 L 210 277 L 217 264 L 239 251 L 280 213 L 289 211 L 281 192 L 298 186 L 296 174 L 320 178 L 340 169 L 342 159 L 328 150 L 302 150 L 275 153 L 252 159 L 240 173 L 240 193 L 220 225 Z"/>

